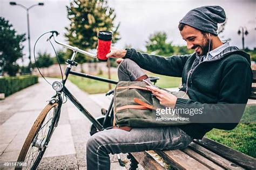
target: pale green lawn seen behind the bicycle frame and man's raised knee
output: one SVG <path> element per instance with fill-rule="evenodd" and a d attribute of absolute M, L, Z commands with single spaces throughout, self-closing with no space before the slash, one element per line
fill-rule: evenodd
<path fill-rule="evenodd" d="M 97 75 L 100 77 L 107 78 L 107 75 Z M 179 77 L 169 77 L 164 75 L 158 75 L 150 73 L 149 76 L 157 76 L 160 79 L 157 81 L 156 85 L 163 87 L 163 88 L 171 88 L 171 87 L 178 87 L 181 78 Z M 89 93 L 89 94 L 98 94 L 98 93 L 106 93 L 109 90 L 109 83 L 100 82 L 97 80 L 92 79 L 86 79 L 83 77 L 78 76 L 72 76 L 70 75 L 68 78 L 72 83 L 76 84 L 76 86 L 83 91 Z M 117 74 L 111 75 L 112 80 L 118 80 Z M 115 85 L 112 84 L 112 88 L 114 88 Z"/>

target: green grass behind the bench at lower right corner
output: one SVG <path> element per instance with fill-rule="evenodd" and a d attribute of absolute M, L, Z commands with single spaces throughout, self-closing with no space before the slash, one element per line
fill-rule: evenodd
<path fill-rule="evenodd" d="M 246 107 L 241 122 L 235 129 L 213 129 L 206 137 L 256 158 L 256 105 Z"/>

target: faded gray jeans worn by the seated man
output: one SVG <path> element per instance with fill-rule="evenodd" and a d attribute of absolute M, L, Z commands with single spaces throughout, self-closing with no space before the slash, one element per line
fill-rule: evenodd
<path fill-rule="evenodd" d="M 120 81 L 134 81 L 144 74 L 137 63 L 130 59 L 124 59 L 118 66 Z M 147 81 L 150 82 L 149 79 Z M 187 147 L 192 140 L 176 126 L 100 131 L 87 141 L 87 169 L 110 169 L 110 153 L 176 150 Z"/>

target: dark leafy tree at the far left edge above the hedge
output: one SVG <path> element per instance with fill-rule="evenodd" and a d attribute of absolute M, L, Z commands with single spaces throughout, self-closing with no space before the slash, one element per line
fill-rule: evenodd
<path fill-rule="evenodd" d="M 17 34 L 8 20 L 0 17 L 0 67 L 10 76 L 15 76 L 19 66 L 16 61 L 22 58 L 25 34 Z"/>

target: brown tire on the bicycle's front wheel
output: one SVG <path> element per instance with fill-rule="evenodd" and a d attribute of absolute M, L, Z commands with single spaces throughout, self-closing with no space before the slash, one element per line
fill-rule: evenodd
<path fill-rule="evenodd" d="M 53 108 L 57 108 L 58 107 L 58 103 L 49 103 L 45 106 L 45 108 L 41 111 L 41 113 L 39 114 L 39 116 L 37 117 L 36 121 L 33 123 L 32 128 L 29 131 L 28 136 L 25 139 L 25 142 L 22 146 L 21 152 L 19 153 L 18 162 L 23 162 L 28 154 L 29 148 L 33 142 L 33 140 L 35 139 L 35 137 L 37 136 L 37 134 L 39 133 L 39 129 L 41 128 L 42 123 L 45 121 L 45 117 L 48 115 L 48 113 L 53 109 Z M 32 146 L 33 147 L 33 146 Z M 45 151 L 46 148 L 44 148 L 43 152 Z M 39 154 L 37 155 L 37 157 L 39 156 Z M 39 158 L 39 161 L 42 159 L 43 155 L 41 155 L 41 158 Z M 37 158 L 36 158 L 37 159 Z M 35 159 L 35 160 L 36 160 Z M 34 164 L 35 162 L 33 162 Z M 27 167 L 25 167 L 27 168 Z M 15 169 L 20 169 L 20 168 L 15 168 Z"/>

